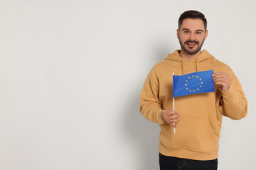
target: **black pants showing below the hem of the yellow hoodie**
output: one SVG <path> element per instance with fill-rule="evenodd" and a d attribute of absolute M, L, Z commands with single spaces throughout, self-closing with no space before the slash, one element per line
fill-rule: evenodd
<path fill-rule="evenodd" d="M 167 157 L 159 153 L 160 170 L 217 170 L 218 159 L 197 161 L 177 157 Z"/>

